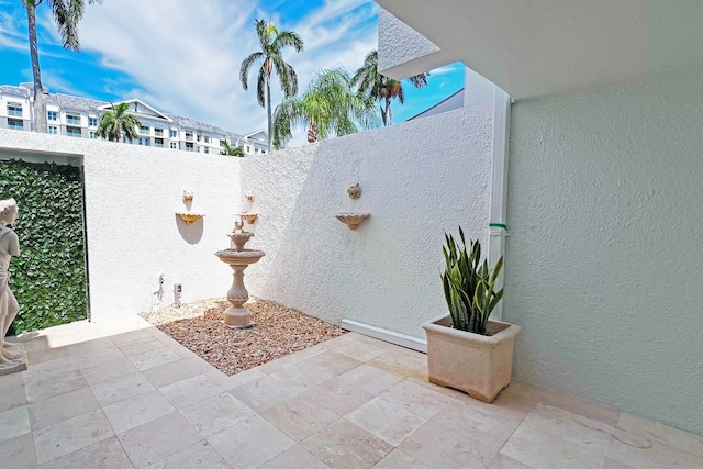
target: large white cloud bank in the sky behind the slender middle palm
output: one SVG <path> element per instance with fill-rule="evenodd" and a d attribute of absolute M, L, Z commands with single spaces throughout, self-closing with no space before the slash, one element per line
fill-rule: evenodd
<path fill-rule="evenodd" d="M 243 0 L 108 1 L 86 9 L 80 38 L 82 49 L 97 53 L 103 66 L 134 79 L 137 89 L 105 82 L 107 90 L 132 93 L 115 99 L 142 98 L 157 109 L 247 133 L 266 127 L 266 110 L 256 102 L 254 71 L 249 90 L 242 89 L 239 64 L 259 47 L 254 19 L 269 15 L 305 42 L 303 53 L 286 56 L 301 91 L 315 70 L 338 65 L 355 70 L 378 44 L 370 21 L 376 5 L 369 0 L 327 0 L 292 24 Z M 276 104 L 282 98 L 276 78 L 271 92 Z"/>

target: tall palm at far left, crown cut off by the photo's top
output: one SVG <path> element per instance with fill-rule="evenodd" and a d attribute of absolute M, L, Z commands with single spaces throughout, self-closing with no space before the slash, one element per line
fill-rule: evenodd
<path fill-rule="evenodd" d="M 40 69 L 40 53 L 36 41 L 36 8 L 44 0 L 22 0 L 26 9 L 26 22 L 30 35 L 30 56 L 32 58 L 32 77 L 34 81 L 34 125 L 36 132 L 46 133 L 46 97 L 42 86 L 42 71 Z M 78 22 L 83 16 L 83 0 L 46 0 L 52 7 L 52 15 L 56 27 L 62 35 L 62 43 L 67 51 L 78 52 Z M 102 0 L 88 0 L 88 3 L 102 3 Z"/>

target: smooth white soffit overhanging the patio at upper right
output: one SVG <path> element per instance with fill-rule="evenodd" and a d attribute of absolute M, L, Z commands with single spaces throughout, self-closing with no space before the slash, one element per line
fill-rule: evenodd
<path fill-rule="evenodd" d="M 703 64 L 703 0 L 376 1 L 515 99 Z"/>

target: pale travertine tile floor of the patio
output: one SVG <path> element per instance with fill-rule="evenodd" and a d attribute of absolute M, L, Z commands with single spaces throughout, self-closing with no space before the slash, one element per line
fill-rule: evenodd
<path fill-rule="evenodd" d="M 703 467 L 702 437 L 520 382 L 484 404 L 358 334 L 234 377 L 140 317 L 24 340 L 1 468 Z"/>

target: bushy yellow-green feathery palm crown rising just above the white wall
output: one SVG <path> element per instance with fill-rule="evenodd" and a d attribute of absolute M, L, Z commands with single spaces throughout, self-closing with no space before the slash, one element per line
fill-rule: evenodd
<path fill-rule="evenodd" d="M 308 142 L 348 135 L 378 125 L 373 99 L 357 93 L 343 68 L 320 71 L 301 97 L 286 98 L 274 114 L 274 146 L 291 137 L 292 126 L 308 127 Z"/>

